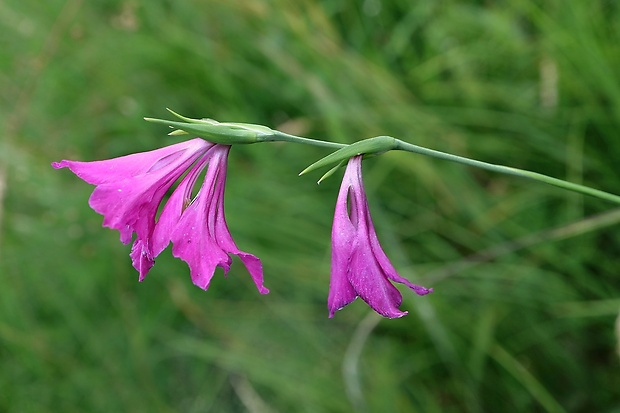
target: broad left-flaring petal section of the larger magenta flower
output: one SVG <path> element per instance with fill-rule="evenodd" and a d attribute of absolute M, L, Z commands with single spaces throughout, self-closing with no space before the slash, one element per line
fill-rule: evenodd
<path fill-rule="evenodd" d="M 155 257 L 151 236 L 155 216 L 170 187 L 213 143 L 192 139 L 149 152 L 94 162 L 54 162 L 69 168 L 84 181 L 96 185 L 89 205 L 103 215 L 103 226 L 117 229 L 124 244 L 136 239 L 130 257 L 144 279 Z"/>

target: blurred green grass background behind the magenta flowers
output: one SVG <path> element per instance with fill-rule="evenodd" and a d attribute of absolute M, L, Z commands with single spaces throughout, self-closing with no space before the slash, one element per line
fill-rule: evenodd
<path fill-rule="evenodd" d="M 341 172 L 235 147 L 226 213 L 262 258 L 143 283 L 61 159 L 176 142 L 144 116 L 387 134 L 620 193 L 613 0 L 0 2 L 0 411 L 620 412 L 620 210 L 406 153 L 364 163 L 410 314 L 327 318 Z"/>

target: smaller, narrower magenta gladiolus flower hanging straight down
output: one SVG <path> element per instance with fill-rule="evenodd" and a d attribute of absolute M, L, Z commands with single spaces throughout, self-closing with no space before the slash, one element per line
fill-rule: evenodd
<path fill-rule="evenodd" d="M 347 199 L 349 203 L 347 204 Z M 350 211 L 349 211 L 350 210 Z M 362 156 L 349 159 L 336 203 L 332 227 L 332 268 L 327 307 L 329 317 L 357 297 L 388 318 L 406 311 L 400 292 L 390 281 L 405 284 L 418 295 L 433 291 L 398 275 L 375 233 L 362 182 Z"/>

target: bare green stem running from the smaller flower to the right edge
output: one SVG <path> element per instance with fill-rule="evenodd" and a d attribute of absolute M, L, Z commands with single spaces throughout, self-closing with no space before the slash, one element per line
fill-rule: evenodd
<path fill-rule="evenodd" d="M 561 179 L 552 178 L 547 175 L 539 174 L 531 171 L 524 171 L 523 169 L 511 168 L 503 165 L 495 165 L 492 163 L 476 161 L 474 159 L 463 158 L 462 156 L 452 155 L 445 152 L 435 151 L 433 149 L 423 148 L 421 146 L 413 145 L 411 143 L 403 142 L 396 139 L 394 149 L 418 153 L 421 155 L 431 156 L 433 158 L 444 159 L 446 161 L 458 162 L 464 165 L 475 166 L 477 168 L 486 169 L 493 172 L 499 172 L 507 175 L 519 176 L 522 178 L 529 178 L 535 181 L 544 182 L 549 185 L 557 186 L 569 191 L 579 192 L 586 195 L 591 195 L 596 198 L 605 199 L 607 201 L 620 204 L 620 196 L 610 194 L 608 192 L 600 191 L 598 189 L 590 188 L 583 185 L 573 184 L 571 182 L 563 181 Z"/>

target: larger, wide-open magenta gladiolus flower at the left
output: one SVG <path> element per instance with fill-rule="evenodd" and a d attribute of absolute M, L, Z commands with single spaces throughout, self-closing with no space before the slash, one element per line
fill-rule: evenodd
<path fill-rule="evenodd" d="M 96 185 L 89 205 L 104 216 L 104 226 L 120 232 L 124 244 L 136 234 L 130 257 L 140 281 L 172 241 L 173 255 L 187 262 L 192 281 L 200 288 L 209 287 L 215 267 L 228 272 L 232 263 L 229 254 L 234 254 L 247 267 L 259 292 L 266 294 L 269 290 L 263 286 L 260 259 L 237 248 L 224 218 L 229 150 L 230 146 L 196 138 L 120 158 L 63 160 L 52 166 L 67 167 Z M 205 181 L 192 199 L 192 188 L 207 165 Z M 156 220 L 165 194 L 183 174 Z"/>

